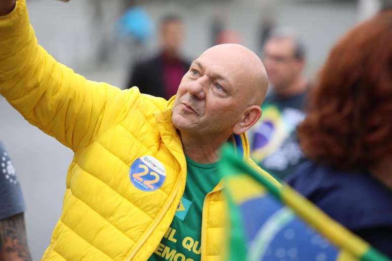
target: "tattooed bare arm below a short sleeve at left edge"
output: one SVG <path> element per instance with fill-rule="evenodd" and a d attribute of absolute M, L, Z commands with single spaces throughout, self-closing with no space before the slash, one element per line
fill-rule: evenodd
<path fill-rule="evenodd" d="M 0 260 L 31 261 L 23 213 L 0 220 Z"/>

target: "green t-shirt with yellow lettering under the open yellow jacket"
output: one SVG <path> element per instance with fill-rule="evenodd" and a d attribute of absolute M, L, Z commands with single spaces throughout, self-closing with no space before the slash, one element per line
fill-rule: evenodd
<path fill-rule="evenodd" d="M 176 215 L 149 261 L 200 260 L 203 202 L 218 185 L 220 175 L 217 163 L 200 164 L 186 157 L 186 167 L 185 191 Z"/>

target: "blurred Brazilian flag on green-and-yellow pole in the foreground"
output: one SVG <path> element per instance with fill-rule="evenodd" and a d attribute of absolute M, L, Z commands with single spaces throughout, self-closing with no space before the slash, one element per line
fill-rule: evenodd
<path fill-rule="evenodd" d="M 289 186 L 267 180 L 230 147 L 222 156 L 229 202 L 228 260 L 389 260 Z"/>

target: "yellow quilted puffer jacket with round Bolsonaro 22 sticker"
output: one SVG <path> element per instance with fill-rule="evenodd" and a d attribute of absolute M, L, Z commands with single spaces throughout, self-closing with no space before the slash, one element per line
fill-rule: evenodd
<path fill-rule="evenodd" d="M 171 122 L 173 99 L 88 81 L 57 63 L 37 44 L 25 1 L 0 17 L 0 39 L 0 93 L 74 152 L 63 211 L 43 260 L 146 260 L 169 228 L 185 188 L 186 161 Z M 245 136 L 233 142 L 248 159 Z M 146 172 L 137 172 L 135 164 L 146 158 Z M 221 189 L 219 183 L 205 198 L 202 260 L 222 255 Z"/>

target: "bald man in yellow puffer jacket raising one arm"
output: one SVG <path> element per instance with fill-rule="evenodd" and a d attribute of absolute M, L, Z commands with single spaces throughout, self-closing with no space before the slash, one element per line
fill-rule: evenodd
<path fill-rule="evenodd" d="M 166 101 L 56 62 L 37 44 L 24 0 L 3 0 L 0 15 L 0 93 L 74 152 L 43 259 L 221 259 L 218 152 L 231 142 L 255 165 L 244 133 L 267 90 L 258 57 L 239 45 L 208 49 Z"/>

